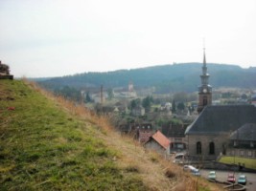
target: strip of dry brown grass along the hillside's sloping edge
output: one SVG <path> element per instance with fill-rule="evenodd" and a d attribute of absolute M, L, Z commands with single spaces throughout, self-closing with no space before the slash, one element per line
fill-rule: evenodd
<path fill-rule="evenodd" d="M 25 80 L 25 79 L 24 79 Z M 66 100 L 61 96 L 54 96 L 50 92 L 41 89 L 36 83 L 25 80 L 35 91 L 52 99 L 67 113 L 79 117 L 86 123 L 99 128 L 96 136 L 104 140 L 105 144 L 118 152 L 118 157 L 113 159 L 116 164 L 126 173 L 136 173 L 150 190 L 156 191 L 194 191 L 197 190 L 197 179 L 184 173 L 182 169 L 170 160 L 164 159 L 158 154 L 147 151 L 136 140 L 121 135 L 113 130 L 105 116 L 97 116 L 87 110 L 84 105 Z M 206 180 L 200 180 L 199 186 L 209 187 L 213 191 L 221 190 L 220 187 L 211 185 Z"/>

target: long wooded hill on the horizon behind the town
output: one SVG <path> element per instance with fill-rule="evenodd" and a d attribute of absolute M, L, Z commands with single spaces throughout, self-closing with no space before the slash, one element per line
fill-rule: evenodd
<path fill-rule="evenodd" d="M 54 89 L 60 86 L 74 88 L 155 87 L 157 93 L 198 91 L 202 63 L 180 63 L 105 73 L 82 73 L 55 77 L 40 82 Z M 243 69 L 236 65 L 208 63 L 209 83 L 214 87 L 256 88 L 256 67 Z"/>

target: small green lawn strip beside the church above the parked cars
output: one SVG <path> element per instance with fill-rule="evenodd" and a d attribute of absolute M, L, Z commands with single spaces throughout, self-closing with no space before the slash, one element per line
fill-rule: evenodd
<path fill-rule="evenodd" d="M 256 159 L 247 159 L 240 157 L 221 157 L 219 160 L 222 163 L 226 164 L 244 164 L 245 168 L 251 168 L 256 170 Z"/>

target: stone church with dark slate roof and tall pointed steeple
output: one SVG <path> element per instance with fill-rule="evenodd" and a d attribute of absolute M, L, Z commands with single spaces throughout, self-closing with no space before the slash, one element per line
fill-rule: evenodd
<path fill-rule="evenodd" d="M 198 87 L 199 116 L 185 131 L 187 154 L 193 159 L 215 160 L 225 155 L 231 135 L 245 124 L 256 124 L 254 105 L 212 105 L 209 77 L 203 49 L 201 85 Z M 256 151 L 256 147 L 252 149 Z"/>

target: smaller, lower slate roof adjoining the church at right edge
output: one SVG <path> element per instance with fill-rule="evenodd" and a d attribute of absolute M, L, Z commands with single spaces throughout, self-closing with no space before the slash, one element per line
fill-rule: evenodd
<path fill-rule="evenodd" d="M 230 135 L 232 140 L 256 140 L 256 123 L 244 124 Z"/>

